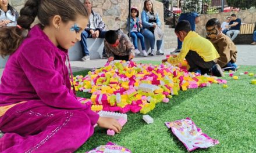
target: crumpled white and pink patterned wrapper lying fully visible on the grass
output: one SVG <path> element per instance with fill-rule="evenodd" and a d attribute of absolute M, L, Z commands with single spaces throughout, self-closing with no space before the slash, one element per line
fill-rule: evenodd
<path fill-rule="evenodd" d="M 197 148 L 208 148 L 219 144 L 218 140 L 211 139 L 207 134 L 202 133 L 202 130 L 197 128 L 190 118 L 165 122 L 165 125 L 172 129 L 172 133 L 182 141 L 188 151 L 193 151 Z"/>

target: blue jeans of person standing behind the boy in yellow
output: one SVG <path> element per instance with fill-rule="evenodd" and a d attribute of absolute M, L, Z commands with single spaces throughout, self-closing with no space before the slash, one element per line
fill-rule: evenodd
<path fill-rule="evenodd" d="M 182 13 L 182 14 L 180 14 L 179 21 L 181 21 L 181 20 L 189 21 L 191 30 L 195 31 L 195 17 L 197 17 L 197 13 Z M 177 40 L 178 40 L 177 49 L 182 49 L 182 42 L 180 41 L 179 38 L 177 38 Z"/>

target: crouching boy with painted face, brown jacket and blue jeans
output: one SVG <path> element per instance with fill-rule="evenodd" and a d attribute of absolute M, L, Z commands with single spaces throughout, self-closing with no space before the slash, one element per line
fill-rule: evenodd
<path fill-rule="evenodd" d="M 221 32 L 221 23 L 216 18 L 208 20 L 205 28 L 207 30 L 207 38 L 212 42 L 219 53 L 220 57 L 217 59 L 217 64 L 222 68 L 226 68 L 225 70 L 234 71 L 237 68 L 235 64 L 237 49 L 234 42 Z"/>

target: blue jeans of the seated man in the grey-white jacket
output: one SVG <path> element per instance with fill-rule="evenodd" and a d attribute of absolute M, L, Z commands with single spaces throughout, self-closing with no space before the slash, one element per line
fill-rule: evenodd
<path fill-rule="evenodd" d="M 106 31 L 99 32 L 99 37 L 98 38 L 105 38 L 105 34 L 106 34 Z M 87 43 L 86 43 L 86 39 L 87 38 L 93 38 L 93 37 L 92 37 L 91 34 L 88 34 L 88 32 L 84 30 L 82 32 L 82 34 L 81 34 L 81 41 L 80 41 L 81 47 L 82 47 L 83 56 L 89 55 L 89 50 L 87 48 Z M 103 48 L 102 54 L 106 54 L 104 48 Z"/>

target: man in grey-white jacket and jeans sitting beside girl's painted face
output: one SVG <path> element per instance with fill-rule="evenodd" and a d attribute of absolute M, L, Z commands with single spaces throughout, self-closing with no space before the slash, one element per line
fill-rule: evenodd
<path fill-rule="evenodd" d="M 81 61 L 90 60 L 89 50 L 87 48 L 86 39 L 87 38 L 105 38 L 105 23 L 102 21 L 101 15 L 92 10 L 93 1 L 85 0 L 84 6 L 86 7 L 89 16 L 89 23 L 86 29 L 81 34 L 81 48 L 83 52 L 83 57 Z M 106 59 L 105 50 L 103 49 L 102 59 Z"/>

